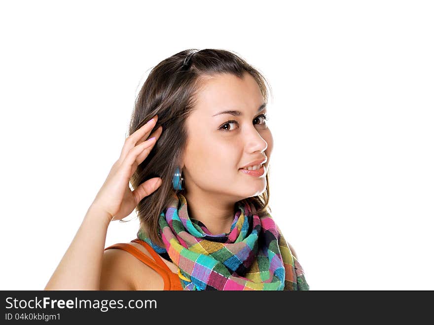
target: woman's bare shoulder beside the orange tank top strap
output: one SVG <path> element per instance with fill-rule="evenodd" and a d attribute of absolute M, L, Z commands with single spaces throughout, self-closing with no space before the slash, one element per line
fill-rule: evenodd
<path fill-rule="evenodd" d="M 132 245 L 153 259 L 138 243 Z M 100 290 L 162 290 L 163 278 L 152 267 L 122 249 L 106 249 L 103 254 Z"/>

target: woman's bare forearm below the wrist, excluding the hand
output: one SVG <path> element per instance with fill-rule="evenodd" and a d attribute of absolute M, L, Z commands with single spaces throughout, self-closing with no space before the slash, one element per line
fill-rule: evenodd
<path fill-rule="evenodd" d="M 44 290 L 99 290 L 111 217 L 91 205 Z"/>

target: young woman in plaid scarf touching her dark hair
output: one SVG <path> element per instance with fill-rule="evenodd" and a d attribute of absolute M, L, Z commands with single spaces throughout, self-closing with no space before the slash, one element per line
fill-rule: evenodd
<path fill-rule="evenodd" d="M 119 159 L 45 289 L 309 289 L 268 207 L 265 84 L 219 49 L 154 67 Z M 134 209 L 137 238 L 104 249 L 110 221 Z"/>

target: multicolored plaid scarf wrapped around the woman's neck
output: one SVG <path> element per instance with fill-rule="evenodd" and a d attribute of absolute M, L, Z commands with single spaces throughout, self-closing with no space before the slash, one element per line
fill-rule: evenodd
<path fill-rule="evenodd" d="M 187 201 L 178 192 L 159 217 L 165 247 L 142 230 L 137 237 L 178 266 L 184 290 L 309 290 L 279 227 L 269 214 L 255 213 L 239 201 L 230 232 L 213 235 L 188 217 Z"/>

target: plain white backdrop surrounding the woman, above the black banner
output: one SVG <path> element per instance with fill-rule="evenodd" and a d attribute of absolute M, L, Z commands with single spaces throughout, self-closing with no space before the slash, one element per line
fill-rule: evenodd
<path fill-rule="evenodd" d="M 43 289 L 149 70 L 239 53 L 273 90 L 271 209 L 314 290 L 434 289 L 431 1 L 2 1 L 0 289 Z M 106 247 L 138 220 L 109 225 Z"/>

